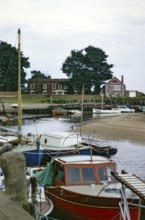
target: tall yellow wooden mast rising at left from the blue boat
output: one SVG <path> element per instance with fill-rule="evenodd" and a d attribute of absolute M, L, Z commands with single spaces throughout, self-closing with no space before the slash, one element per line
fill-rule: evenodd
<path fill-rule="evenodd" d="M 18 29 L 18 143 L 21 142 L 21 31 Z"/>

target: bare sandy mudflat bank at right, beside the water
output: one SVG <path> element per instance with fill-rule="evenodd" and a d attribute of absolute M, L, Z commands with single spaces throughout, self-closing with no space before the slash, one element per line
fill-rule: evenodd
<path fill-rule="evenodd" d="M 129 141 L 145 145 L 145 113 L 122 113 L 103 116 L 82 123 L 81 132 L 86 137 Z"/>

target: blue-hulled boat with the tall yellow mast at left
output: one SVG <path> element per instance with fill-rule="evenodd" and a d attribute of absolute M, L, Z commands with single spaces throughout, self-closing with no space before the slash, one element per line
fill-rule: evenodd
<path fill-rule="evenodd" d="M 20 37 L 21 31 L 18 30 L 18 131 L 17 135 L 17 145 L 13 145 L 13 151 L 21 152 L 26 158 L 26 166 L 38 166 L 43 159 L 43 148 L 39 143 L 39 136 L 37 135 L 27 135 L 22 136 L 22 109 L 21 109 L 21 42 Z M 23 138 L 26 142 L 23 143 Z"/>

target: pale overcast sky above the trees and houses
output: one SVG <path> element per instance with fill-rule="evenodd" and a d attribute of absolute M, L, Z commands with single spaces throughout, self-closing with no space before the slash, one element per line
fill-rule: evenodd
<path fill-rule="evenodd" d="M 31 71 L 66 78 L 71 50 L 102 49 L 113 76 L 145 93 L 145 0 L 0 0 L 0 40 L 29 57 Z"/>

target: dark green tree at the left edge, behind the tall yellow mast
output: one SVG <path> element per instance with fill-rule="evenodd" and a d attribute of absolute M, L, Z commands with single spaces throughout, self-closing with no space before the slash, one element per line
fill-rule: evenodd
<path fill-rule="evenodd" d="M 21 85 L 26 80 L 24 68 L 29 68 L 29 58 L 21 52 Z M 18 50 L 6 42 L 0 41 L 0 86 L 3 91 L 18 90 Z"/>

